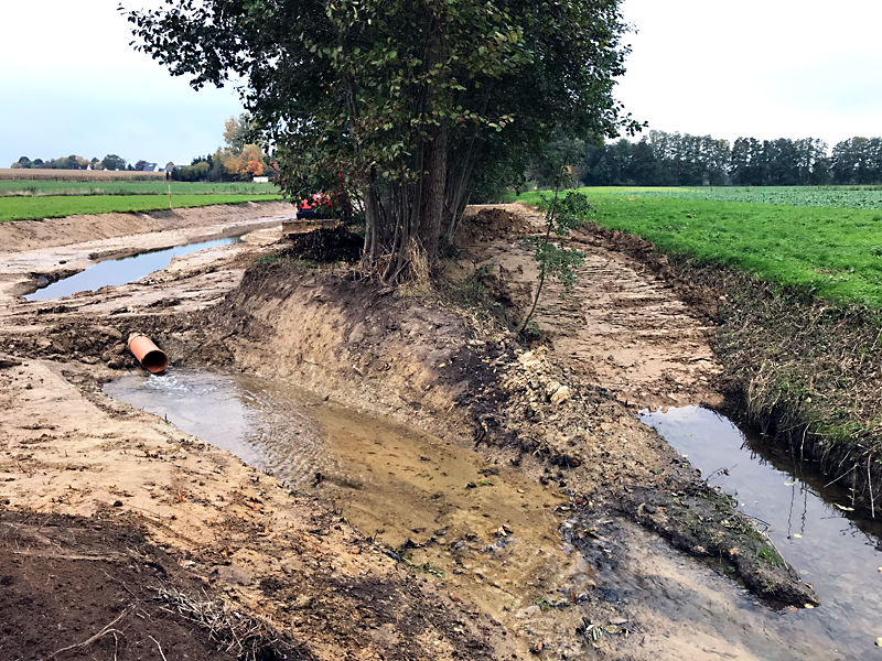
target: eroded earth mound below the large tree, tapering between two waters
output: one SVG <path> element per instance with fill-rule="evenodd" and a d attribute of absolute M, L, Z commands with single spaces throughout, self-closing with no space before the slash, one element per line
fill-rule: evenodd
<path fill-rule="evenodd" d="M 580 507 L 621 509 L 693 554 L 729 559 L 762 596 L 816 603 L 786 563 L 757 560 L 767 542 L 729 499 L 698 486 L 654 432 L 545 349 L 525 353 L 438 302 L 377 296 L 291 263 L 250 269 L 208 314 L 236 366 L 474 444 L 578 495 Z M 647 503 L 667 513 L 647 519 Z"/>

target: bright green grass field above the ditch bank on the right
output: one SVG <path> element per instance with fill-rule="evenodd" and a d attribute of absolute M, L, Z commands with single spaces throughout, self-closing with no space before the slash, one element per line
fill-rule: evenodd
<path fill-rule="evenodd" d="M 779 188 L 777 195 L 795 201 L 798 193 L 811 191 Z M 599 210 L 590 219 L 639 235 L 665 252 L 806 286 L 833 301 L 882 308 L 882 212 L 667 197 L 678 189 L 580 192 Z M 860 197 L 864 192 L 839 191 L 849 193 Z M 518 199 L 541 202 L 538 193 Z"/>

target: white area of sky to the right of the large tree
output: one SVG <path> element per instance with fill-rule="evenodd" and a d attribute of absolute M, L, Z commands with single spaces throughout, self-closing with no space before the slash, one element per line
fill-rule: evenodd
<path fill-rule="evenodd" d="M 617 97 L 650 128 L 733 140 L 882 134 L 882 3 L 625 0 Z"/>

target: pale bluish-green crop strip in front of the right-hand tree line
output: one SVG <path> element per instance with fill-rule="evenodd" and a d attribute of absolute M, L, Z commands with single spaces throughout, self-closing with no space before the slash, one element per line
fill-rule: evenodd
<path fill-rule="evenodd" d="M 600 189 L 600 188 L 596 188 Z M 614 188 L 603 188 L 613 192 Z M 620 195 L 786 206 L 882 209 L 882 186 L 763 186 L 711 188 L 620 188 Z"/>

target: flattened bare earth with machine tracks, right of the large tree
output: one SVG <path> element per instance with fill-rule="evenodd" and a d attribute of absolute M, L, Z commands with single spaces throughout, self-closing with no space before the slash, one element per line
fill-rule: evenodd
<path fill-rule="evenodd" d="M 536 232 L 542 226 L 544 217 L 521 205 L 503 208 Z M 576 239 L 569 245 L 585 253 L 576 284 L 567 291 L 547 280 L 535 317 L 553 354 L 628 404 L 717 403 L 722 366 L 710 345 L 713 326 L 643 264 L 600 240 Z M 524 241 L 496 239 L 476 252 L 478 266 L 496 269 L 512 289 L 535 291 L 539 271 Z"/>

